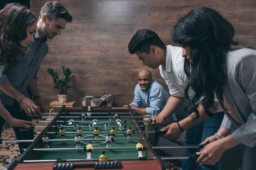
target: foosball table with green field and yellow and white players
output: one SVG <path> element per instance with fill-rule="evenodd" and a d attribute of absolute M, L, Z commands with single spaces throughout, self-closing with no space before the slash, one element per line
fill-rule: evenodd
<path fill-rule="evenodd" d="M 188 148 L 188 146 L 152 147 L 131 112 L 131 108 L 82 107 L 65 108 L 56 116 L 41 113 L 32 119 L 38 123 L 49 122 L 35 140 L 1 141 L 32 142 L 17 160 L 12 160 L 4 170 L 165 170 L 164 159 L 194 159 L 188 157 L 160 157 L 154 149 Z M 51 113 L 54 114 L 54 113 Z M 53 118 L 52 121 L 41 119 Z M 43 127 L 43 126 L 38 126 Z M 32 129 L 37 126 L 31 126 Z M 189 146 L 202 148 L 203 145 Z"/>

